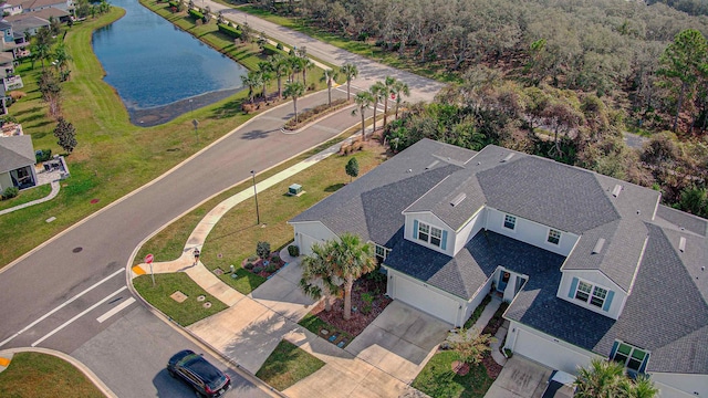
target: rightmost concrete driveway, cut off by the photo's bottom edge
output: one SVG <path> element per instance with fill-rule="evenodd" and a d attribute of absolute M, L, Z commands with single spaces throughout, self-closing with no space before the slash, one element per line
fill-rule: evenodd
<path fill-rule="evenodd" d="M 486 398 L 539 398 L 545 389 L 551 369 L 514 355 L 507 360 Z"/>

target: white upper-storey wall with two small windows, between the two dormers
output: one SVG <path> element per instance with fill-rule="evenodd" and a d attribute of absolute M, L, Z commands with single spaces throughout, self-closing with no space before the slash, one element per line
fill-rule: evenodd
<path fill-rule="evenodd" d="M 565 256 L 571 252 L 571 250 L 573 250 L 573 247 L 577 241 L 579 237 L 576 234 L 560 231 L 561 240 L 559 244 L 549 243 L 546 241 L 550 230 L 549 227 L 540 224 L 538 222 L 524 220 L 521 217 L 517 217 L 517 228 L 514 230 L 510 230 L 503 227 L 506 214 L 507 213 L 502 211 L 487 207 L 487 223 L 485 228 L 490 231 L 510 237 L 518 241 L 533 244 L 534 247 Z"/>

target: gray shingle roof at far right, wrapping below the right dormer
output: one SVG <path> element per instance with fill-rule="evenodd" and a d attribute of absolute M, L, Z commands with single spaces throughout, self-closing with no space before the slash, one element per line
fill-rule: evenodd
<path fill-rule="evenodd" d="M 617 321 L 555 297 L 560 272 L 531 276 L 506 316 L 603 356 L 615 339 L 645 348 L 652 353 L 648 371 L 707 374 L 708 276 L 695 275 L 706 241 L 694 237 L 688 245 L 700 254 L 681 254 L 671 242 L 676 231 L 646 227 L 647 250 Z"/>

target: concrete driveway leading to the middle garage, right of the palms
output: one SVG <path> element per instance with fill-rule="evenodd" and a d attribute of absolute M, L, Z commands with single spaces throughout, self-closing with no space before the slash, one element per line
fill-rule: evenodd
<path fill-rule="evenodd" d="M 394 301 L 346 350 L 395 378 L 416 378 L 452 325 Z"/>

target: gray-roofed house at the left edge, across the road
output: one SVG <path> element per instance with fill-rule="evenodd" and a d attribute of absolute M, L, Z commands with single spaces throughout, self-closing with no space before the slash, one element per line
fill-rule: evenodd
<path fill-rule="evenodd" d="M 27 135 L 0 138 L 0 190 L 37 185 L 34 148 Z"/>

